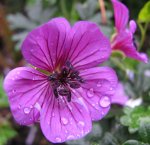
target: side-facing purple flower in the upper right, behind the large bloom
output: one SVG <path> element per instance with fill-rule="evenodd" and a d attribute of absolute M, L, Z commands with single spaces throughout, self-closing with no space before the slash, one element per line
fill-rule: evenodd
<path fill-rule="evenodd" d="M 139 53 L 134 40 L 134 33 L 136 30 L 136 23 L 134 20 L 129 21 L 128 8 L 118 0 L 111 0 L 114 8 L 116 33 L 112 40 L 112 49 L 119 50 L 125 56 L 147 63 L 148 58 L 146 54 Z"/>

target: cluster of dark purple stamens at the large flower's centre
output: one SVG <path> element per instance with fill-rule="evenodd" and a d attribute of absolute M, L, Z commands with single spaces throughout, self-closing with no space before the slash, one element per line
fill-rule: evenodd
<path fill-rule="evenodd" d="M 71 88 L 78 89 L 84 80 L 79 76 L 79 72 L 74 69 L 72 64 L 67 61 L 61 71 L 57 71 L 48 77 L 52 84 L 53 93 L 56 98 L 66 96 L 67 101 L 71 101 Z"/>

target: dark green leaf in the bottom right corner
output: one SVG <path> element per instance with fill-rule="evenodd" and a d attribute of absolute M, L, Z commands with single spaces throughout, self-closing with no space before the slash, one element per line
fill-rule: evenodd
<path fill-rule="evenodd" d="M 139 135 L 143 142 L 150 143 L 150 124 L 147 122 L 141 122 L 139 128 Z"/>

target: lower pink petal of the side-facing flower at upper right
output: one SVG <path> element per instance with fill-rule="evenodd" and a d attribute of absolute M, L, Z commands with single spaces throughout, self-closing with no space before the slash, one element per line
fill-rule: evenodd
<path fill-rule="evenodd" d="M 112 49 L 122 51 L 127 57 L 147 63 L 148 57 L 136 50 L 133 34 L 129 31 L 120 32 L 112 41 Z"/>

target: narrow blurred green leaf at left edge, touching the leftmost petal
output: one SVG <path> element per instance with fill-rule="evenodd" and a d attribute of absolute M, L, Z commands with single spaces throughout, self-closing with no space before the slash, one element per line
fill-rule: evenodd
<path fill-rule="evenodd" d="M 8 107 L 8 99 L 7 96 L 3 90 L 3 78 L 0 77 L 0 107 Z"/>

